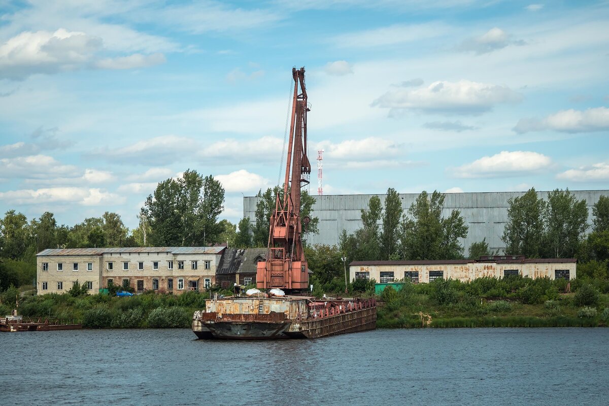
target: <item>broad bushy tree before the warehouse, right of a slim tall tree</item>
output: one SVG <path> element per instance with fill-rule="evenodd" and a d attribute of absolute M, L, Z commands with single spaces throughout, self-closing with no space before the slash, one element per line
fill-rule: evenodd
<path fill-rule="evenodd" d="M 463 257 L 459 239 L 468 227 L 459 210 L 442 217 L 445 195 L 423 191 L 404 214 L 401 226 L 401 257 L 410 260 L 457 259 Z"/>

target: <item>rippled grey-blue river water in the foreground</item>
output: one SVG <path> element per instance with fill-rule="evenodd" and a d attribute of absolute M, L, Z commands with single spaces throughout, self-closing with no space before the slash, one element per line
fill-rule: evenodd
<path fill-rule="evenodd" d="M 607 405 L 609 329 L 0 334 L 2 405 Z"/>

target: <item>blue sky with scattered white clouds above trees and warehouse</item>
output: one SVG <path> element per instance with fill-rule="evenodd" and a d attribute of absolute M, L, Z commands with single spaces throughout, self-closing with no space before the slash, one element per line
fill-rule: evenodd
<path fill-rule="evenodd" d="M 608 1 L 0 0 L 0 212 L 134 228 L 194 169 L 236 223 L 301 66 L 324 194 L 609 188 Z"/>

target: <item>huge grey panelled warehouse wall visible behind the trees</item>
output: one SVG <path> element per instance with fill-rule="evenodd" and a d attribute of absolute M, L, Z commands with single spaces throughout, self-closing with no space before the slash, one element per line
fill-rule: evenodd
<path fill-rule="evenodd" d="M 586 200 L 588 205 L 588 223 L 592 223 L 592 206 L 601 195 L 609 196 L 609 190 L 571 191 L 577 200 Z M 468 235 L 461 241 L 467 250 L 473 242 L 486 238 L 491 250 L 504 252 L 505 244 L 501 240 L 505 223 L 507 222 L 508 199 L 524 195 L 525 192 L 473 192 L 447 193 L 444 201 L 443 216 L 448 217 L 453 209 L 458 209 L 469 227 Z M 547 200 L 548 192 L 537 192 L 540 198 Z M 335 245 L 339 242 L 342 230 L 354 233 L 361 228 L 361 210 L 368 208 L 368 201 L 374 195 L 325 195 L 314 196 L 317 201 L 313 205 L 314 217 L 319 217 L 319 234 L 306 236 L 312 244 Z M 386 195 L 378 195 L 382 205 Z M 407 210 L 418 197 L 417 193 L 400 194 L 402 208 Z M 256 203 L 259 197 L 244 197 L 243 215 L 256 219 Z"/>

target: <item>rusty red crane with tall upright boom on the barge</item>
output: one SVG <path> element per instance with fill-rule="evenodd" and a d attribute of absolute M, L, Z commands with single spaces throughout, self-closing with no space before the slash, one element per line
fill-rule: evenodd
<path fill-rule="evenodd" d="M 306 115 L 310 109 L 305 87 L 305 68 L 292 68 L 292 77 L 294 96 L 283 195 L 276 196 L 275 211 L 270 216 L 266 261 L 258 262 L 256 269 L 256 285 L 259 289 L 280 288 L 289 292 L 306 290 L 309 285 L 301 234 L 303 223 L 306 227 L 310 219 L 300 218 L 300 189 L 309 183 L 311 174 L 311 163 L 306 153 Z"/>

